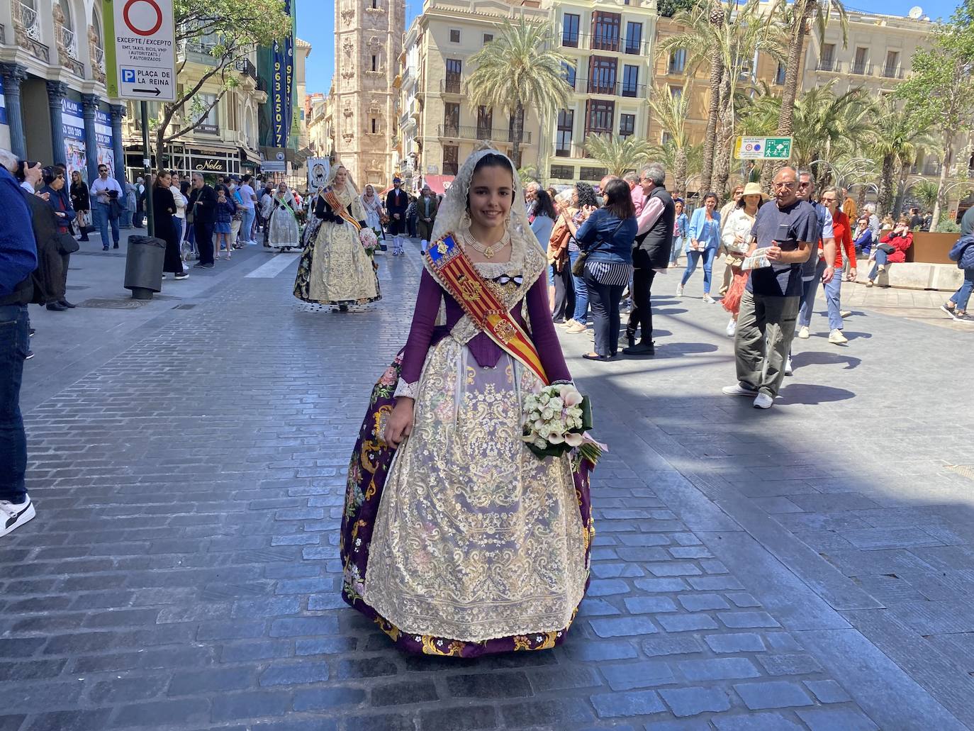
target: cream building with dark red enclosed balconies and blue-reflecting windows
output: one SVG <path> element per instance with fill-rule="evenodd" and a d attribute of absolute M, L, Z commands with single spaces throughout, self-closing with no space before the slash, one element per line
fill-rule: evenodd
<path fill-rule="evenodd" d="M 556 184 L 597 181 L 605 170 L 585 153 L 588 135 L 649 134 L 656 0 L 554 0 L 549 7 L 559 49 L 574 61 L 566 66 L 574 94 L 545 129 L 542 176 Z"/>

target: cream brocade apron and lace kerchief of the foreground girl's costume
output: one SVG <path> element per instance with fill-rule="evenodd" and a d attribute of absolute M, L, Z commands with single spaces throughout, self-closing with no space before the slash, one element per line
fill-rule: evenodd
<path fill-rule="evenodd" d="M 517 249 L 512 263 L 477 271 L 521 275 Z M 537 253 L 531 265 L 541 271 Z M 503 288 L 508 308 L 525 307 L 528 282 Z M 521 440 L 523 398 L 541 381 L 506 354 L 496 367 L 478 365 L 466 344 L 476 334 L 465 316 L 429 349 L 413 431 L 376 516 L 362 596 L 409 635 L 481 642 L 558 631 L 584 593 L 586 534 L 569 459 L 539 459 Z"/>

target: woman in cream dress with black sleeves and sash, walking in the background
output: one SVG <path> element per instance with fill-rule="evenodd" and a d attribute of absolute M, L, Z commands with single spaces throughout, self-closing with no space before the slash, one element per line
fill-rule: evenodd
<path fill-rule="evenodd" d="M 331 169 L 315 217 L 320 219 L 318 232 L 314 238 L 306 237 L 294 296 L 334 305 L 341 312 L 348 312 L 349 305 L 380 299 L 376 266 L 358 238 L 365 228 L 365 212 L 344 167 Z"/>

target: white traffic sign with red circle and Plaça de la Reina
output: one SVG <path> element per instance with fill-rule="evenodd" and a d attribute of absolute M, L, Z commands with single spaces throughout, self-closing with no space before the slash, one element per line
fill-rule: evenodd
<path fill-rule="evenodd" d="M 175 101 L 172 0 L 101 0 L 108 96 Z"/>

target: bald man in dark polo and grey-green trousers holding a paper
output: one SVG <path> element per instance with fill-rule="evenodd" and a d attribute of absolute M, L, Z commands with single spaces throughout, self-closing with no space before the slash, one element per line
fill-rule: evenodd
<path fill-rule="evenodd" d="M 767 248 L 770 266 L 751 272 L 741 297 L 734 334 L 737 383 L 723 391 L 753 398 L 755 408 L 770 408 L 781 388 L 802 296 L 802 264 L 818 246 L 815 210 L 797 193 L 798 175 L 782 168 L 774 176 L 775 201 L 758 210 L 751 231 L 749 253 Z"/>

